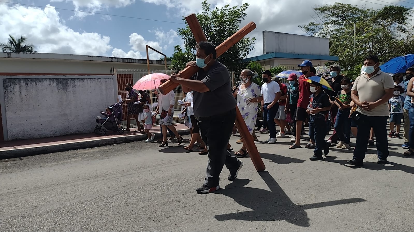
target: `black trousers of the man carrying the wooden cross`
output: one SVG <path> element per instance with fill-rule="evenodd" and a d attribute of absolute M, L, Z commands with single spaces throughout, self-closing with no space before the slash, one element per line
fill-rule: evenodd
<path fill-rule="evenodd" d="M 229 170 L 238 168 L 238 159 L 227 151 L 233 125 L 236 121 L 236 108 L 224 114 L 208 118 L 197 118 L 201 138 L 207 145 L 208 163 L 204 184 L 209 187 L 219 185 L 223 166 Z"/>

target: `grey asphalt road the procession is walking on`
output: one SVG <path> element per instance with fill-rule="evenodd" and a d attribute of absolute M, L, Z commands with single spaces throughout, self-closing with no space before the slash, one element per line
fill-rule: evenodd
<path fill-rule="evenodd" d="M 259 140 L 265 140 L 261 135 Z M 232 146 L 241 147 L 231 139 Z M 1 232 L 412 231 L 414 160 L 392 139 L 388 165 L 332 148 L 324 161 L 289 138 L 257 144 L 267 172 L 249 158 L 238 180 L 195 192 L 207 156 L 133 142 L 0 161 Z M 305 142 L 303 142 L 303 145 Z M 352 145 L 352 144 L 351 144 Z M 369 148 L 375 153 L 375 148 Z M 398 154 L 400 153 L 400 154 Z"/>

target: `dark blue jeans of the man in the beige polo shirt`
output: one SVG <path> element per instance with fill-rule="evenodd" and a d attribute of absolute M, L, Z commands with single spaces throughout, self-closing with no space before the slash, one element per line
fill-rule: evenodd
<path fill-rule="evenodd" d="M 359 119 L 356 120 L 356 124 L 358 125 L 358 134 L 356 135 L 356 144 L 353 159 L 365 159 L 365 152 L 368 147 L 368 139 L 371 132 L 371 128 L 373 128 L 375 138 L 377 140 L 376 145 L 378 159 L 387 159 L 389 154 L 387 122 L 387 116 L 366 116 L 363 114 L 359 114 Z"/>

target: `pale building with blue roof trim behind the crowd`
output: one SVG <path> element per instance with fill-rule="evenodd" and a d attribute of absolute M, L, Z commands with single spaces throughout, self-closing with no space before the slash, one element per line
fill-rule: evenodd
<path fill-rule="evenodd" d="M 278 65 L 297 69 L 303 60 L 310 60 L 313 66 L 338 61 L 338 57 L 329 55 L 329 39 L 273 31 L 262 34 L 263 54 L 243 62 L 258 61 L 265 69 Z"/>

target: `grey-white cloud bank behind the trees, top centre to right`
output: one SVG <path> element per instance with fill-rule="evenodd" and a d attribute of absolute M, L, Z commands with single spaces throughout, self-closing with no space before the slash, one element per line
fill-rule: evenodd
<path fill-rule="evenodd" d="M 190 13 L 198 13 L 201 11 L 200 0 L 142 0 L 144 2 L 153 3 L 156 5 L 165 5 L 169 8 L 169 12 L 178 10 L 180 15 L 188 15 Z M 230 6 L 242 5 L 249 3 L 246 13 L 246 20 L 241 26 L 244 26 L 249 21 L 256 23 L 257 28 L 251 32 L 249 37 L 256 37 L 255 49 L 250 52 L 249 57 L 262 54 L 263 41 L 261 31 L 277 31 L 283 33 L 305 34 L 298 25 L 307 24 L 313 21 L 311 18 L 315 15 L 312 8 L 317 5 L 333 4 L 335 2 L 342 2 L 352 5 L 366 5 L 367 7 L 382 8 L 383 5 L 375 3 L 363 2 L 360 0 L 209 0 L 212 8 L 222 7 L 226 4 Z M 389 3 L 401 3 L 398 0 L 388 0 Z M 378 3 L 378 2 L 377 2 Z M 386 3 L 379 2 L 387 5 Z M 175 8 L 175 9 L 174 9 Z M 178 14 L 178 13 L 177 13 Z"/>

